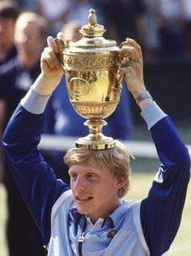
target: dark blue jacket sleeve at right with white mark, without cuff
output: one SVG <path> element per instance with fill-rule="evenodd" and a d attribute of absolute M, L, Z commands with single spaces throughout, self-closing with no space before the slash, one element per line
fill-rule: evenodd
<path fill-rule="evenodd" d="M 170 117 L 150 129 L 161 164 L 148 198 L 142 200 L 141 222 L 152 256 L 161 256 L 171 246 L 180 226 L 185 202 L 190 158 Z"/>

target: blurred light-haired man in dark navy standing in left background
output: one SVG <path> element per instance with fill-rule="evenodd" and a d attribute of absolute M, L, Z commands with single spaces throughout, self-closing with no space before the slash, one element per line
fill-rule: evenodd
<path fill-rule="evenodd" d="M 40 55 L 47 24 L 41 16 L 26 12 L 15 25 L 18 56 L 0 68 L 0 118 L 5 126 L 20 98 L 40 72 Z M 3 119 L 4 118 L 4 119 Z M 6 165 L 5 187 L 8 193 L 7 238 L 9 254 L 43 255 L 38 229 Z"/>

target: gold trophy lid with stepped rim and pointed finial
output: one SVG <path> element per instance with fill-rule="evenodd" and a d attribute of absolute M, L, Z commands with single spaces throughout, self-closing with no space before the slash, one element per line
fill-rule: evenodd
<path fill-rule="evenodd" d="M 68 50 L 71 52 L 118 51 L 119 48 L 114 40 L 107 40 L 102 37 L 106 29 L 97 23 L 96 10 L 90 9 L 89 13 L 88 24 L 79 29 L 83 38 L 77 42 L 71 42 Z"/>

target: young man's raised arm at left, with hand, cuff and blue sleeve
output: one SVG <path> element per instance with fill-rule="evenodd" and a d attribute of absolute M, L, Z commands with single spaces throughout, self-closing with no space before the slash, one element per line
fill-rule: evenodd
<path fill-rule="evenodd" d="M 42 73 L 14 111 L 3 134 L 3 150 L 20 188 L 47 244 L 50 213 L 56 199 L 69 188 L 55 178 L 53 170 L 38 152 L 43 110 L 49 95 L 61 80 L 61 67 L 55 57 L 54 39 L 42 54 Z M 53 43 L 52 43 L 53 42 Z"/>

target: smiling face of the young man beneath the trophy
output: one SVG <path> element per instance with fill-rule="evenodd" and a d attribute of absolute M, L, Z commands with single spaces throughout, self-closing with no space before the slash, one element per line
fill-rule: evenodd
<path fill-rule="evenodd" d="M 107 217 L 118 205 L 118 190 L 124 180 L 100 165 L 74 164 L 70 167 L 71 188 L 78 212 L 90 217 L 93 223 Z"/>

